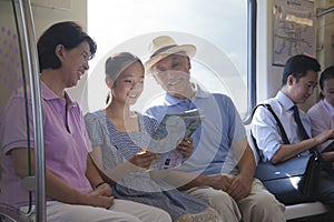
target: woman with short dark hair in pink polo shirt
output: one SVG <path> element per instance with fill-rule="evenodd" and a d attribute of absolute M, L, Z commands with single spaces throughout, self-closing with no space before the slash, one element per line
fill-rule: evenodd
<path fill-rule="evenodd" d="M 43 109 L 48 221 L 170 221 L 163 210 L 115 200 L 88 152 L 90 142 L 81 110 L 66 88 L 77 84 L 89 69 L 95 41 L 75 22 L 51 26 L 38 41 Z M 28 209 L 29 193 L 21 181 L 29 175 L 24 94 L 19 91 L 3 111 L 1 124 L 0 203 Z M 28 95 L 28 105 L 31 99 Z M 35 171 L 32 118 L 29 118 L 31 170 Z M 32 203 L 35 201 L 32 200 Z M 30 211 L 33 218 L 35 211 Z"/>

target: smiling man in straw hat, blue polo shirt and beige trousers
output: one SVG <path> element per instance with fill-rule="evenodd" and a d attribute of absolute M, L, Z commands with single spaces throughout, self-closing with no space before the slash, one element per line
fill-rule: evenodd
<path fill-rule="evenodd" d="M 164 103 L 149 108 L 147 113 L 160 121 L 166 113 L 199 108 L 205 115 L 193 134 L 195 152 L 179 168 L 197 176 L 180 189 L 207 201 L 224 221 L 285 221 L 284 205 L 253 176 L 254 155 L 232 100 L 190 81 L 195 46 L 177 44 L 173 38 L 161 36 L 153 40 L 151 47 L 146 67 L 167 93 Z"/>

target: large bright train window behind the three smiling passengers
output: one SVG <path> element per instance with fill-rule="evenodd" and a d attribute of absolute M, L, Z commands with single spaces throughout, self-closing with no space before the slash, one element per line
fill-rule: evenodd
<path fill-rule="evenodd" d="M 88 33 L 98 43 L 86 88 L 89 111 L 105 103 L 108 89 L 104 83 L 104 64 L 108 56 L 129 51 L 145 62 L 150 56 L 151 39 L 168 34 L 179 43 L 196 46 L 190 70 L 193 81 L 209 91 L 228 94 L 245 118 L 248 107 L 246 0 L 100 0 L 98 3 L 88 0 L 87 8 Z M 136 109 L 141 111 L 163 94 L 154 78 L 147 75 Z"/>

